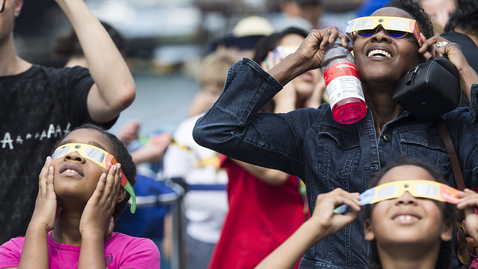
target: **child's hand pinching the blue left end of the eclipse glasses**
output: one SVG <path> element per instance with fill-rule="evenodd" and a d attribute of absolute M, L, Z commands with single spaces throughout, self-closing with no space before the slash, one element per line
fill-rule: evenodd
<path fill-rule="evenodd" d="M 334 209 L 342 204 L 348 205 L 351 208 L 350 212 L 345 214 L 334 213 Z M 348 193 L 337 188 L 334 191 L 317 196 L 314 213 L 310 221 L 317 225 L 317 231 L 325 231 L 328 235 L 331 235 L 354 221 L 359 211 L 359 193 Z"/>

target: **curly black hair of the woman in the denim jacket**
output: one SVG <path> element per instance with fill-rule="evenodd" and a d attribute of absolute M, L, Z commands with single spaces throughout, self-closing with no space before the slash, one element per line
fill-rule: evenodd
<path fill-rule="evenodd" d="M 433 23 L 422 4 L 415 0 L 391 0 L 384 7 L 401 9 L 410 14 L 418 24 L 418 29 L 427 39 L 435 35 Z"/>

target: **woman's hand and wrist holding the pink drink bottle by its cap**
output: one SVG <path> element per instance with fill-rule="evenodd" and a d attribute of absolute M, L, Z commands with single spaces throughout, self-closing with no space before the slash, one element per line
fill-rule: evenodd
<path fill-rule="evenodd" d="M 279 83 L 285 85 L 308 70 L 321 67 L 325 47 L 328 44 L 334 44 L 337 37 L 340 37 L 344 47 L 352 49 L 352 46 L 348 46 L 347 36 L 338 32 L 335 26 L 312 30 L 297 51 L 285 57 L 282 62 L 269 70 L 269 74 Z"/>

